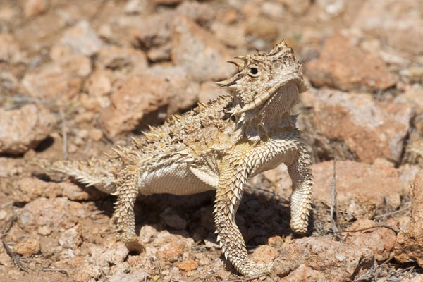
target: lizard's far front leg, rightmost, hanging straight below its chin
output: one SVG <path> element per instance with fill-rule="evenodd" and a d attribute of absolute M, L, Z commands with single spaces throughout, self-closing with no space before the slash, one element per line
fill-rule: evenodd
<path fill-rule="evenodd" d="M 288 173 L 293 181 L 290 227 L 294 232 L 304 234 L 307 233 L 309 214 L 312 209 L 312 161 L 302 140 L 296 147 L 297 152 L 292 163 L 287 164 Z"/>

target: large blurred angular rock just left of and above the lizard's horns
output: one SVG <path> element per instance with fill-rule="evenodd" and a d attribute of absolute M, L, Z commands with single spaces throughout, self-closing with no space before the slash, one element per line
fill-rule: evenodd
<path fill-rule="evenodd" d="M 235 69 L 225 63 L 231 56 L 216 38 L 188 18 L 173 25 L 171 58 L 197 82 L 228 78 Z"/>

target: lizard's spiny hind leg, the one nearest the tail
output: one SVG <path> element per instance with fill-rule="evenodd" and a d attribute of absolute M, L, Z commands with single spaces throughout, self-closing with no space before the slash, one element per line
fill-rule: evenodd
<path fill-rule="evenodd" d="M 126 174 L 127 170 L 125 170 L 119 179 L 118 190 L 114 193 L 118 200 L 115 204 L 113 219 L 116 221 L 119 236 L 128 250 L 140 253 L 145 250 L 145 247 L 135 233 L 134 205 L 139 193 L 135 171 Z"/>

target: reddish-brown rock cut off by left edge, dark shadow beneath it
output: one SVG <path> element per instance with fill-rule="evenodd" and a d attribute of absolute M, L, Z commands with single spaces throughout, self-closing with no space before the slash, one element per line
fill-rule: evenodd
<path fill-rule="evenodd" d="M 0 153 L 23 154 L 37 147 L 56 123 L 56 117 L 41 105 L 0 109 Z"/>

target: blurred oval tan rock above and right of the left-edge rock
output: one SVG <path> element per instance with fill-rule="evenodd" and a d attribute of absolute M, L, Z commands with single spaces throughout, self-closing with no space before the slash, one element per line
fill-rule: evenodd
<path fill-rule="evenodd" d="M 67 101 L 80 92 L 90 73 L 90 59 L 73 55 L 25 74 L 22 84 L 32 97 Z"/>

